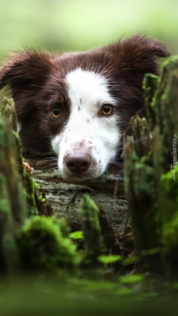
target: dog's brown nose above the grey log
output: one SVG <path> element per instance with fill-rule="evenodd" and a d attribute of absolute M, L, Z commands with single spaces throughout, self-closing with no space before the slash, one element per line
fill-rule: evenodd
<path fill-rule="evenodd" d="M 81 151 L 76 151 L 65 156 L 66 167 L 75 173 L 87 171 L 91 165 L 91 155 Z"/>

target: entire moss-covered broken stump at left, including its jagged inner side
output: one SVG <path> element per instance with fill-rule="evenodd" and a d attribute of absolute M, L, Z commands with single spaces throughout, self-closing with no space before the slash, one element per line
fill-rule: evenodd
<path fill-rule="evenodd" d="M 16 231 L 30 214 L 48 208 L 39 187 L 27 171 L 17 134 L 15 105 L 4 98 L 0 106 L 0 270 L 12 272 L 19 265 Z"/>

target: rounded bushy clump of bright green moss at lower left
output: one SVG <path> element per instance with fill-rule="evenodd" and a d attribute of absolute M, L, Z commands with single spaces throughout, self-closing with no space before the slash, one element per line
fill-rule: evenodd
<path fill-rule="evenodd" d="M 18 232 L 21 264 L 37 270 L 75 266 L 80 258 L 76 246 L 64 238 L 55 217 L 32 216 Z"/>

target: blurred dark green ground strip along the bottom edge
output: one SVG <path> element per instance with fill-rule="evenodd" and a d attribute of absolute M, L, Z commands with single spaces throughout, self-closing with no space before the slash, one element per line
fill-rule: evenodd
<path fill-rule="evenodd" d="M 31 315 L 176 315 L 177 284 L 170 296 L 152 289 L 140 275 L 120 277 L 118 282 L 82 280 L 70 277 L 16 277 L 0 283 L 0 308 L 3 316 Z M 157 287 L 159 280 L 157 282 Z M 161 286 L 160 286 L 161 288 Z"/>

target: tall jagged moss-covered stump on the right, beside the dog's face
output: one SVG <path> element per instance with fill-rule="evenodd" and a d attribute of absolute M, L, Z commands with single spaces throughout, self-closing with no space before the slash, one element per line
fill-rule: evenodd
<path fill-rule="evenodd" d="M 146 75 L 144 89 L 148 123 L 131 120 L 126 195 L 138 252 L 154 270 L 169 266 L 171 272 L 178 264 L 178 57 L 165 62 L 160 81 Z"/>

